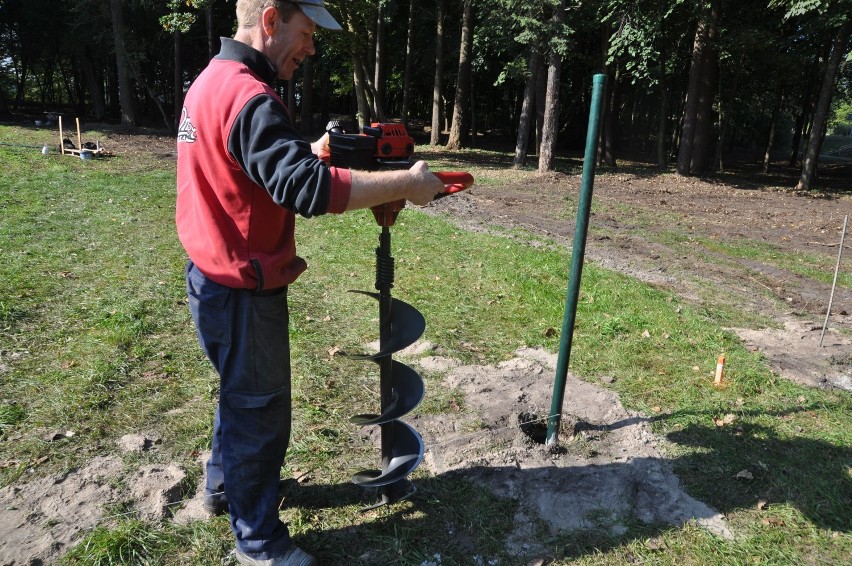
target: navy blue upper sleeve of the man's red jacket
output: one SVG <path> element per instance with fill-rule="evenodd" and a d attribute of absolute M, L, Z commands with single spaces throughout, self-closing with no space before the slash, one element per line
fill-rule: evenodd
<path fill-rule="evenodd" d="M 231 128 L 228 151 L 278 205 L 307 218 L 328 210 L 328 167 L 311 153 L 286 108 L 272 96 L 249 100 Z"/>

